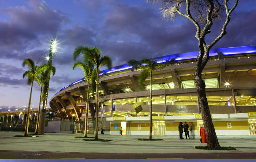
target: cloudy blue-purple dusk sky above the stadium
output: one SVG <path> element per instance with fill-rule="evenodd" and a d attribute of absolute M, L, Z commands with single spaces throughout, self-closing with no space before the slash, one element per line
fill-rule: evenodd
<path fill-rule="evenodd" d="M 230 0 L 232 3 L 234 0 Z M 83 78 L 72 58 L 77 46 L 97 46 L 113 66 L 129 59 L 140 60 L 198 51 L 195 26 L 185 17 L 162 19 L 161 3 L 146 0 L 0 0 L 0 107 L 2 111 L 28 106 L 30 85 L 22 77 L 26 58 L 45 63 L 51 39 L 57 39 L 58 53 L 52 64 L 50 98 L 61 88 Z M 214 20 L 210 43 L 221 32 L 225 16 Z M 256 2 L 240 0 L 231 14 L 227 34 L 212 48 L 249 46 L 256 43 Z M 82 60 L 78 58 L 77 60 Z M 106 67 L 101 67 L 104 70 Z M 31 107 L 39 104 L 40 87 L 34 83 Z M 48 105 L 49 107 L 49 105 Z"/>

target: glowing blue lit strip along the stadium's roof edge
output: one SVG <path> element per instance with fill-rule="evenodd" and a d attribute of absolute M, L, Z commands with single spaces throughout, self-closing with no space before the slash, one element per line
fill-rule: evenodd
<path fill-rule="evenodd" d="M 215 48 L 215 49 L 212 49 L 209 51 L 209 54 L 212 54 L 212 53 L 217 53 L 217 52 L 237 52 L 237 51 L 251 51 L 251 50 L 256 50 L 256 45 L 252 45 L 252 46 L 238 46 L 238 47 L 225 47 L 225 48 Z M 178 53 L 178 54 L 172 54 L 172 55 L 166 55 L 166 56 L 159 56 L 159 57 L 156 57 L 156 58 L 153 58 L 153 60 L 156 60 L 156 61 L 159 61 L 159 60 L 166 60 L 166 59 L 172 59 L 172 58 L 178 58 L 178 57 L 188 57 L 188 56 L 196 56 L 198 55 L 199 51 L 192 51 L 192 52 L 184 52 L 184 53 Z M 234 54 L 234 55 L 237 55 L 237 54 Z M 185 60 L 185 59 L 181 59 L 181 60 Z M 178 60 L 180 61 L 180 60 Z M 123 65 L 118 65 L 118 66 L 115 66 L 115 67 L 112 67 L 111 69 L 105 69 L 105 70 L 102 70 L 100 71 L 99 73 L 104 73 L 106 74 L 106 72 L 108 71 L 113 71 L 113 70 L 117 70 L 119 68 L 125 68 L 125 67 L 128 67 L 128 64 L 123 64 Z M 127 69 L 126 69 L 127 70 Z M 123 71 L 123 70 L 118 70 L 118 71 Z M 117 71 L 115 71 L 117 72 Z M 111 73 L 111 72 L 110 72 Z M 84 80 L 85 78 L 82 78 L 82 79 L 79 79 L 79 80 Z M 79 83 L 77 80 L 76 82 Z M 80 82 L 81 82 L 80 81 Z M 69 86 L 72 86 L 73 84 L 75 84 L 76 82 L 73 82 L 71 84 L 69 84 L 67 87 Z M 61 90 L 67 88 L 67 87 L 64 87 L 64 88 L 61 88 Z M 61 91 L 60 90 L 60 91 Z M 59 92 L 60 92 L 59 91 Z M 58 93 L 58 92 L 57 92 Z M 56 93 L 56 94 L 57 94 Z"/>

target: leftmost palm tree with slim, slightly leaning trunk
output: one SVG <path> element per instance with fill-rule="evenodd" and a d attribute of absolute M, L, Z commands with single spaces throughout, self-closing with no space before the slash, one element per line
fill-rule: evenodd
<path fill-rule="evenodd" d="M 25 59 L 22 63 L 23 67 L 25 67 L 26 65 L 29 67 L 29 70 L 24 72 L 23 78 L 25 78 L 25 76 L 28 76 L 27 84 L 28 85 L 31 84 L 24 136 L 27 136 L 28 131 L 29 131 L 29 115 L 30 115 L 30 106 L 31 106 L 31 96 L 32 96 L 33 83 L 34 83 L 35 77 L 37 77 L 37 71 L 39 69 L 45 69 L 48 67 L 47 65 L 38 67 L 37 64 L 38 64 L 39 60 L 40 60 L 40 58 L 38 59 L 36 65 L 35 65 L 34 61 L 31 60 L 30 58 Z"/>

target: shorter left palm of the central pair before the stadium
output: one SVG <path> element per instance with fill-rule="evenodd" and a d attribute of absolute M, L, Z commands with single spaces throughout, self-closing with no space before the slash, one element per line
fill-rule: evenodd
<path fill-rule="evenodd" d="M 73 66 L 73 70 L 75 67 L 80 67 L 84 72 L 84 77 L 86 81 L 88 82 L 87 85 L 87 99 L 86 99 L 86 111 L 85 111 L 85 126 L 84 126 L 84 137 L 87 137 L 87 125 L 88 125 L 88 108 L 89 108 L 89 86 L 90 86 L 90 80 L 93 74 L 94 70 L 94 64 L 91 61 L 84 60 L 84 63 L 82 62 L 76 62 Z"/>

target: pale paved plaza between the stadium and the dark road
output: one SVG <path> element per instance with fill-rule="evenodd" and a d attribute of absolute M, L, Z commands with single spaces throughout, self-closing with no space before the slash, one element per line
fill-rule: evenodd
<path fill-rule="evenodd" d="M 99 135 L 100 139 L 111 139 L 113 142 L 82 141 L 76 136 L 83 134 L 46 133 L 37 138 L 20 138 L 20 132 L 0 131 L 0 150 L 12 151 L 49 151 L 49 152 L 80 152 L 80 153 L 255 153 L 255 136 L 218 136 L 221 146 L 233 146 L 237 151 L 227 150 L 196 150 L 194 146 L 206 146 L 196 139 L 180 140 L 177 136 L 153 136 L 164 141 L 137 141 L 148 138 L 147 135 Z M 93 137 L 93 134 L 89 134 Z"/>

